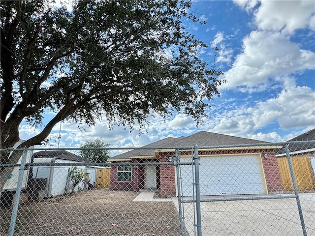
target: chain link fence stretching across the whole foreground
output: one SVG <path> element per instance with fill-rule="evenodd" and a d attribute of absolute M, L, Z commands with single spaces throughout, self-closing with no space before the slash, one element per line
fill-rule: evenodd
<path fill-rule="evenodd" d="M 81 150 L 1 150 L 1 235 L 315 235 L 315 141 Z"/>

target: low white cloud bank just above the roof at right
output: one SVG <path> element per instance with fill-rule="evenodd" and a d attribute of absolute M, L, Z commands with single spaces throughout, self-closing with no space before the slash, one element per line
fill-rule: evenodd
<path fill-rule="evenodd" d="M 280 128 L 288 130 L 297 127 L 315 126 L 315 91 L 309 87 L 295 87 L 283 90 L 275 98 L 259 101 L 246 106 L 223 106 L 217 111 L 212 130 L 217 133 L 230 134 L 239 137 L 259 139 L 269 142 L 285 141 L 273 132 L 254 134 L 267 125 L 278 123 Z"/>

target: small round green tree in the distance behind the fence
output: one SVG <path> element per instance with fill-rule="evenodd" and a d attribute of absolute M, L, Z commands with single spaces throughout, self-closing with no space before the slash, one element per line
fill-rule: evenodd
<path fill-rule="evenodd" d="M 80 145 L 80 148 L 87 148 L 80 150 L 80 155 L 96 163 L 105 163 L 110 157 L 108 150 L 106 149 L 95 149 L 95 148 L 106 148 L 109 144 L 103 139 L 95 139 L 94 141 L 86 141 Z M 93 148 L 93 149 L 91 149 Z"/>

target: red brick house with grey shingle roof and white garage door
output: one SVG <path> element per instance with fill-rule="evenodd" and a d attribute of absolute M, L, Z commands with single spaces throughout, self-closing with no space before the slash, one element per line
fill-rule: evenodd
<path fill-rule="evenodd" d="M 282 192 L 282 180 L 275 153 L 275 148 L 280 147 L 264 146 L 264 143 L 267 142 L 205 131 L 188 137 L 168 137 L 146 145 L 144 149 L 133 149 L 110 158 L 111 163 L 120 164 L 111 167 L 110 188 L 133 191 L 157 188 L 163 196 L 177 195 L 178 179 L 175 167 L 157 164 L 168 163 L 176 147 L 193 147 L 197 144 L 201 147 L 198 152 L 200 195 Z M 251 145 L 246 146 L 248 144 Z M 146 162 L 152 164 L 143 165 Z M 180 151 L 180 162 L 192 162 L 191 150 L 186 148 Z M 184 196 L 193 195 L 192 167 L 180 167 Z"/>

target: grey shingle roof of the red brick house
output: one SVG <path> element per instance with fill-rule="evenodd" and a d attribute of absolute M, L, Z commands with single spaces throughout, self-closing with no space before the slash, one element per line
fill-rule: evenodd
<path fill-rule="evenodd" d="M 143 148 L 175 148 L 175 147 L 193 147 L 197 144 L 202 146 L 219 146 L 219 145 L 240 145 L 240 144 L 260 144 L 267 143 L 264 141 L 240 138 L 230 135 L 211 133 L 206 131 L 200 131 L 198 133 L 189 135 L 188 137 L 181 136 L 179 138 L 166 138 L 158 142 L 143 146 Z M 125 152 L 123 154 L 111 157 L 110 160 L 128 160 L 130 157 L 145 157 L 153 158 L 153 149 L 136 149 Z"/>

